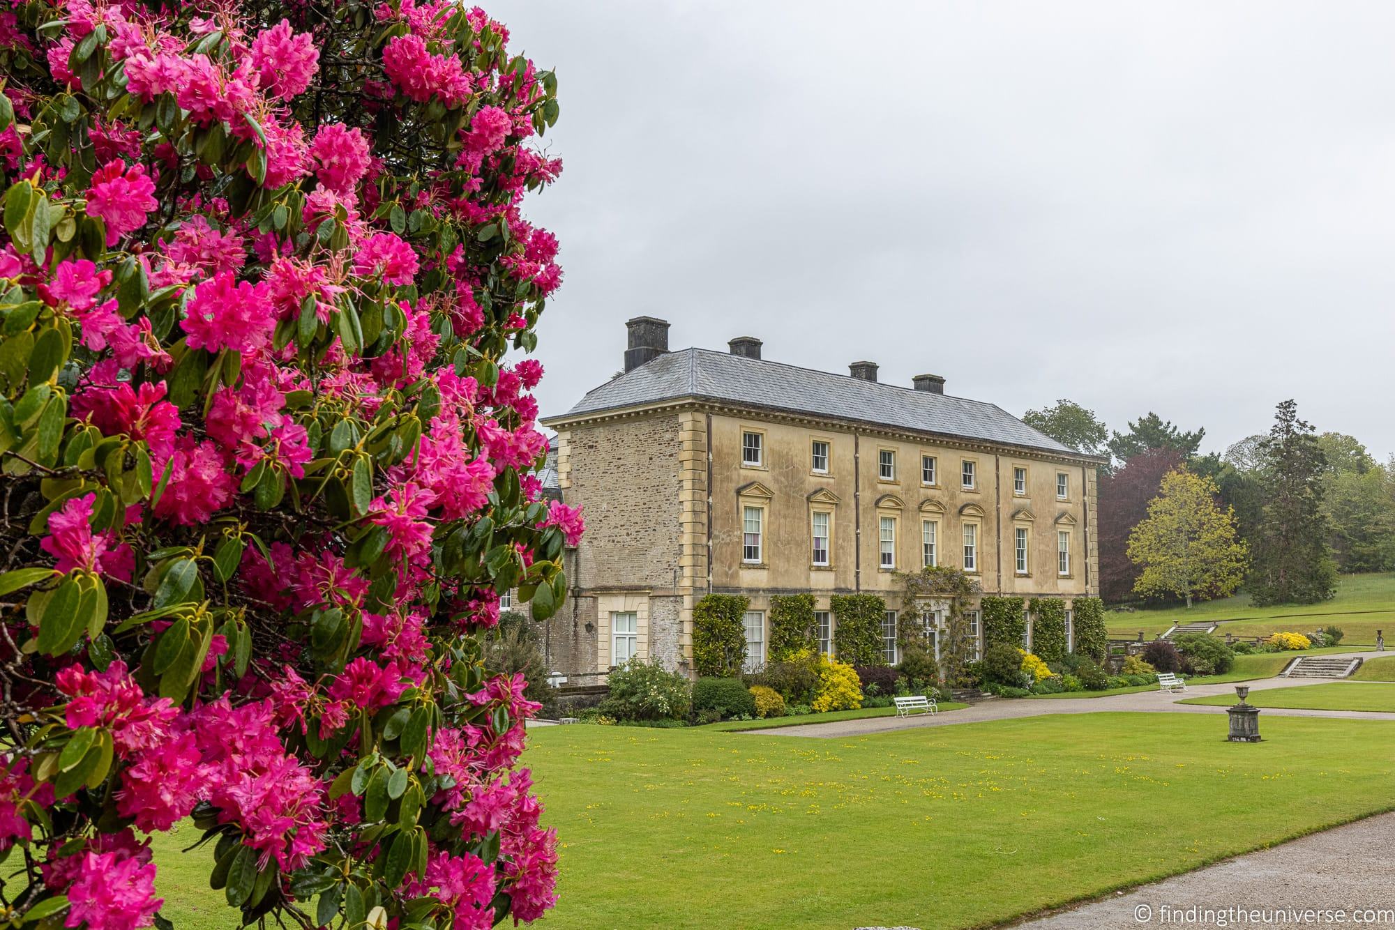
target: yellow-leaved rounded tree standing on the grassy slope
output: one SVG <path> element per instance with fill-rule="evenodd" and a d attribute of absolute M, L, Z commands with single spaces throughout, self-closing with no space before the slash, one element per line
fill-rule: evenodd
<path fill-rule="evenodd" d="M 1162 477 L 1148 516 L 1129 535 L 1138 566 L 1134 591 L 1191 600 L 1228 597 L 1244 580 L 1247 551 L 1236 538 L 1235 513 L 1216 506 L 1216 485 L 1184 468 Z"/>

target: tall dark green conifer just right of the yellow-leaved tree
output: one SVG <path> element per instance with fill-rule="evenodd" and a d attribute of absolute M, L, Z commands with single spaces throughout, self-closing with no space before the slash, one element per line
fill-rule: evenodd
<path fill-rule="evenodd" d="M 1322 516 L 1327 456 L 1292 400 L 1279 404 L 1261 446 L 1268 494 L 1254 534 L 1250 594 L 1257 605 L 1325 601 L 1336 594 L 1336 563 Z"/>

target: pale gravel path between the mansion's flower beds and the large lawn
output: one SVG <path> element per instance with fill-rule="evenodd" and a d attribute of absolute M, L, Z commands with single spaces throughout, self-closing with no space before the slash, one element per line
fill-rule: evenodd
<path fill-rule="evenodd" d="M 1335 654 L 1334 654 L 1335 655 Z M 1348 654 L 1342 654 L 1348 655 Z M 1389 653 L 1350 653 L 1350 657 L 1371 658 L 1375 655 L 1389 655 Z M 1331 678 L 1265 678 L 1254 682 L 1236 682 L 1232 685 L 1194 685 L 1189 686 L 1184 694 L 1166 694 L 1163 692 L 1137 692 L 1134 694 L 1110 694 L 1109 697 L 1046 697 L 1046 699 L 993 699 L 979 704 L 971 704 L 963 710 L 946 711 L 943 714 L 917 714 L 914 717 L 872 717 L 866 719 L 848 719 L 831 724 L 805 724 L 802 726 L 783 726 L 777 729 L 745 731 L 755 736 L 816 736 L 823 739 L 840 739 L 844 736 L 866 736 L 869 733 L 889 733 L 898 729 L 917 729 L 921 726 L 953 726 L 954 724 L 979 724 L 993 719 L 1016 719 L 1020 717 L 1045 717 L 1046 714 L 1101 714 L 1109 711 L 1126 712 L 1162 712 L 1162 714 L 1225 714 L 1225 707 L 1207 707 L 1204 704 L 1179 704 L 1184 697 L 1211 697 L 1214 694 L 1235 694 L 1235 686 L 1244 683 L 1253 692 L 1262 692 L 1271 687 L 1296 687 L 1303 685 L 1325 685 Z M 1356 685 L 1359 687 L 1359 685 Z M 1395 719 L 1395 714 L 1380 711 L 1318 711 L 1318 710 L 1288 710 L 1267 707 L 1260 717 L 1261 726 L 1265 717 L 1338 717 L 1343 719 Z"/>

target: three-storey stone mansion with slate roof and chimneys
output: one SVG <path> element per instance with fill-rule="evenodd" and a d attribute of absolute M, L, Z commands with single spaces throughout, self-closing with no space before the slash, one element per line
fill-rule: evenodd
<path fill-rule="evenodd" d="M 836 375 L 766 361 L 759 339 L 670 351 L 667 322 L 628 330 L 624 372 L 543 420 L 561 495 L 586 516 L 545 636 L 575 683 L 635 655 L 691 672 L 709 593 L 751 600 L 752 666 L 771 595 L 817 597 L 826 651 L 829 595 L 883 595 L 894 662 L 896 572 L 953 565 L 983 594 L 1064 598 L 1067 636 L 1071 598 L 1098 594 L 1098 459 L 936 375 L 903 388 L 869 361 Z"/>

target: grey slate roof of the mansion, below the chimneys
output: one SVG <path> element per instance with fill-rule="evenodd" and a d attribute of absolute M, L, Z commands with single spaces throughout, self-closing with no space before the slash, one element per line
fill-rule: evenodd
<path fill-rule="evenodd" d="M 658 356 L 587 392 L 566 414 L 544 422 L 679 397 L 1081 455 L 996 404 L 707 349 Z"/>

